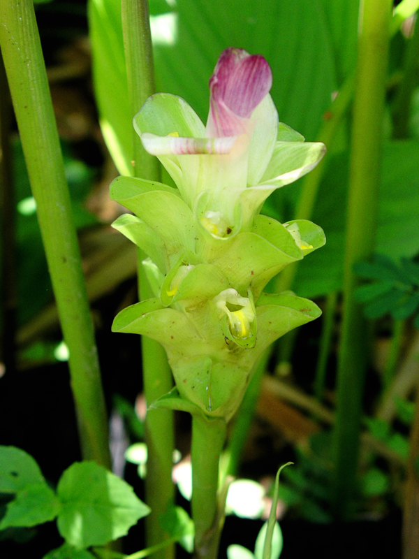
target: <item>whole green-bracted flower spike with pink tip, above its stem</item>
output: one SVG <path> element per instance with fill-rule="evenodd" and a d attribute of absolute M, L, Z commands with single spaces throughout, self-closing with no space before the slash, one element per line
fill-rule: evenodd
<path fill-rule="evenodd" d="M 183 99 L 150 97 L 134 126 L 177 189 L 133 177 L 111 185 L 111 197 L 134 214 L 113 226 L 149 256 L 147 273 L 160 291 L 120 312 L 112 329 L 161 342 L 189 411 L 225 419 L 263 351 L 321 314 L 309 300 L 263 293 L 287 264 L 325 243 L 311 222 L 259 215 L 274 189 L 308 173 L 325 152 L 278 122 L 271 83 L 263 57 L 227 49 L 210 80 L 206 126 Z"/>

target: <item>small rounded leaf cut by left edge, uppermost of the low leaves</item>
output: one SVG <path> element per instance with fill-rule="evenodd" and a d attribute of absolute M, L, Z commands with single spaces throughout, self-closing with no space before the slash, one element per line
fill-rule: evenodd
<path fill-rule="evenodd" d="M 0 446 L 0 493 L 17 493 L 36 484 L 45 484 L 45 479 L 34 458 L 22 449 Z"/>

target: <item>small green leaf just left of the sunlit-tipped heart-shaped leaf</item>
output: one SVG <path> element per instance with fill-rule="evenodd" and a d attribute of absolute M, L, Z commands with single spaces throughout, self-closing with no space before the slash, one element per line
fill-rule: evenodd
<path fill-rule="evenodd" d="M 8 503 L 0 530 L 10 526 L 30 528 L 52 521 L 59 514 L 59 508 L 59 500 L 45 481 L 27 485 L 17 492 L 15 500 Z"/>

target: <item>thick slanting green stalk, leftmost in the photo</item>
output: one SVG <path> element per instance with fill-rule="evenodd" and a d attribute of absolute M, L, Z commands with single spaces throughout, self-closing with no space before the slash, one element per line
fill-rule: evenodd
<path fill-rule="evenodd" d="M 70 196 L 32 0 L 1 0 L 0 45 L 70 350 L 84 458 L 110 467 L 108 422 Z"/>

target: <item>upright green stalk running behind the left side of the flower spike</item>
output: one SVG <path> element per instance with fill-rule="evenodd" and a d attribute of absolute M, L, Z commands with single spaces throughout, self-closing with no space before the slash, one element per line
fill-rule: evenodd
<path fill-rule="evenodd" d="M 128 96 L 131 114 L 135 115 L 154 93 L 154 66 L 152 40 L 149 27 L 147 0 L 122 0 L 122 31 L 126 72 L 128 76 Z M 159 161 L 142 147 L 140 137 L 132 128 L 134 175 L 149 180 L 160 180 Z M 154 296 L 142 267 L 144 255 L 138 255 L 138 279 L 140 300 Z M 148 337 L 141 338 L 142 378 L 147 405 L 172 389 L 172 372 L 168 365 L 166 351 L 159 342 Z M 173 504 L 175 488 L 172 484 L 172 458 L 174 449 L 173 412 L 169 409 L 147 411 L 145 436 L 148 449 L 145 479 L 145 496 L 151 514 L 146 518 L 147 546 L 160 544 L 168 538 L 161 526 L 160 517 Z M 156 557 L 170 559 L 175 546 L 159 549 Z"/>

